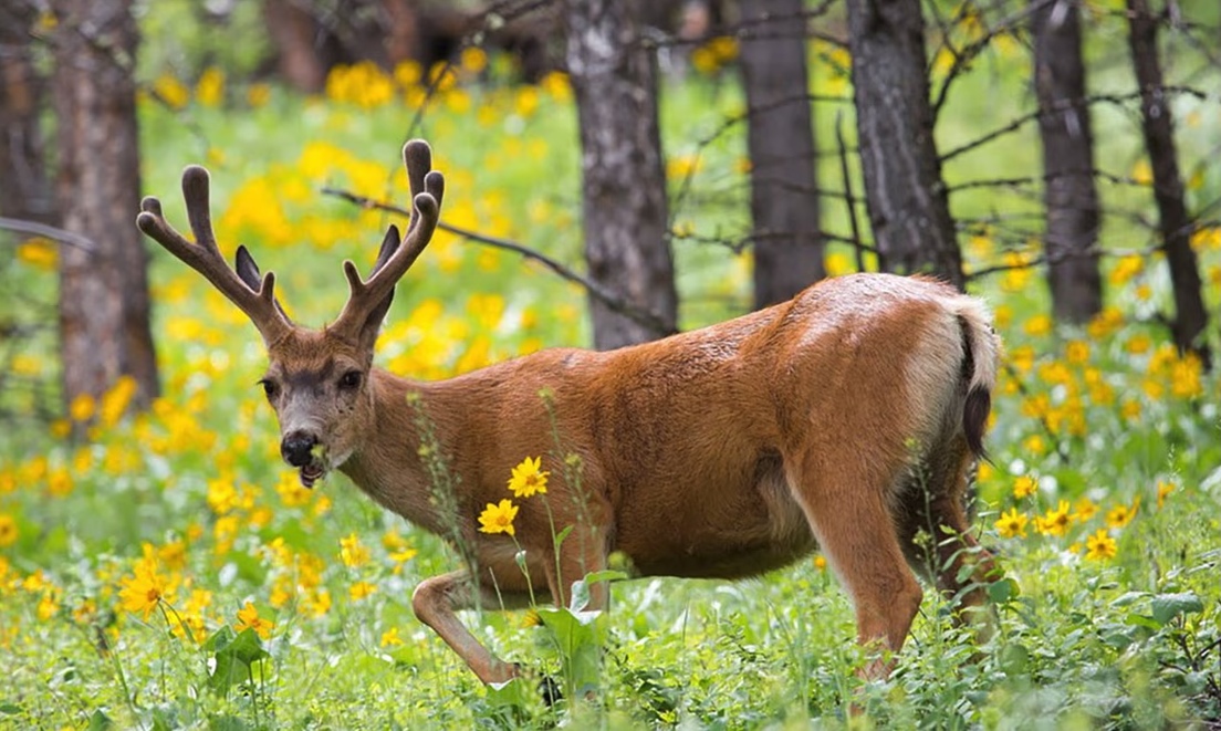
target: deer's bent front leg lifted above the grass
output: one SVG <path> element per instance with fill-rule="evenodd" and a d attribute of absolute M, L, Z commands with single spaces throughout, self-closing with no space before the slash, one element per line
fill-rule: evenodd
<path fill-rule="evenodd" d="M 411 594 L 411 609 L 415 610 L 415 616 L 432 627 L 432 631 L 475 671 L 479 680 L 488 685 L 513 680 L 518 676 L 516 666 L 498 659 L 475 639 L 455 613 L 476 608 L 516 609 L 527 607 L 529 603 L 527 593 L 497 594 L 495 589 L 479 585 L 469 571 L 452 571 L 427 578 L 415 587 Z"/>

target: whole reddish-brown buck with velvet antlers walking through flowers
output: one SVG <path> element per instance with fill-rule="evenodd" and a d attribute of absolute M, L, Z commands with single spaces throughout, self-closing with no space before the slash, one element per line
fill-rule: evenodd
<path fill-rule="evenodd" d="M 182 176 L 194 243 L 155 198 L 137 223 L 259 328 L 270 360 L 261 383 L 302 483 L 339 470 L 420 527 L 449 537 L 446 524 L 457 521 L 473 566 L 424 581 L 411 604 L 484 682 L 508 681 L 518 666 L 455 613 L 525 605 L 527 576 L 564 605 L 571 582 L 604 569 L 612 552 L 641 575 L 734 578 L 821 547 L 851 597 L 860 641 L 891 652 L 922 598 L 908 565 L 962 603 L 983 603 L 993 565 L 967 531 L 962 498 L 983 452 L 1000 344 L 979 300 L 928 278 L 845 276 L 653 343 L 542 350 L 410 381 L 372 366 L 374 343 L 396 282 L 437 225 L 443 178 L 426 143 L 408 143 L 403 157 L 405 239 L 389 227 L 368 279 L 344 261 L 350 297 L 322 329 L 289 321 L 275 276 L 260 275 L 244 247 L 226 265 L 203 167 Z M 457 476 L 449 516 L 421 456 L 419 409 Z M 579 495 L 562 477 L 557 433 L 580 458 Z M 529 455 L 553 477 L 551 514 L 532 499 L 514 519 L 523 567 L 514 541 L 480 532 L 475 519 L 508 497 L 505 478 Z M 568 527 L 557 556 L 553 531 Z M 917 539 L 922 530 L 933 539 Z M 606 607 L 606 585 L 590 591 L 592 608 Z M 884 676 L 891 661 L 879 657 L 864 672 Z"/>

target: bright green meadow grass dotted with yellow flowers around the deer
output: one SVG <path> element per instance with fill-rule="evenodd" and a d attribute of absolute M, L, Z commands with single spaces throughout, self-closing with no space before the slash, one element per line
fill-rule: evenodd
<path fill-rule="evenodd" d="M 1010 60 L 967 76 L 944 112 L 943 148 L 1018 113 L 1024 72 Z M 206 162 L 222 245 L 241 240 L 275 268 L 286 304 L 308 323 L 336 315 L 347 290 L 339 261 L 368 266 L 389 221 L 319 188 L 365 187 L 404 200 L 397 156 L 409 133 L 433 144 L 454 222 L 580 267 L 571 106 L 542 94 L 537 109 L 519 113 L 526 103 L 518 90 L 469 93 L 469 107 L 442 103 L 415 129 L 414 110 L 402 104 L 363 109 L 280 90 L 254 109 L 147 103 L 145 188 L 184 226 L 178 175 L 187 162 Z M 741 104 L 726 83 L 667 89 L 667 149 L 672 157 L 700 153 L 676 226 L 729 238 L 748 226 L 741 128 L 698 144 Z M 1181 135 L 1188 170 L 1221 127 L 1215 106 L 1184 106 L 1190 111 L 1201 118 Z M 823 146 L 834 123 L 819 110 Z M 1123 128 L 1114 118 L 1106 124 Z M 844 126 L 851 131 L 850 115 Z M 1033 173 L 1031 134 L 965 156 L 946 176 Z M 1099 159 L 1127 173 L 1133 134 L 1128 126 L 1100 137 Z M 330 146 L 305 155 L 317 144 Z M 819 172 L 839 187 L 838 161 Z M 1206 199 L 1221 183 L 1208 171 L 1201 185 L 1193 195 Z M 1150 214 L 1147 188 L 1104 194 L 1122 212 Z M 988 192 L 954 205 L 960 216 L 1033 210 L 1021 195 Z M 828 228 L 847 229 L 840 206 L 827 204 L 824 216 Z M 1115 217 L 1104 240 L 1127 249 L 1148 236 Z M 968 247 L 973 266 L 1002 255 L 1004 242 L 982 238 Z M 694 240 L 675 248 L 685 326 L 742 311 L 745 259 Z M 1219 383 L 1167 350 L 1153 321 L 1170 301 L 1159 260 L 1129 278 L 1112 275 L 1115 320 L 1088 329 L 1042 326 L 1038 272 L 977 283 L 1001 314 L 1012 365 L 996 395 L 977 530 L 1018 588 L 998 589 L 990 638 L 955 630 L 930 593 L 893 677 L 862 685 L 850 604 L 813 560 L 739 583 L 618 582 L 610 611 L 590 628 L 604 648 L 596 699 L 548 709 L 530 685 L 485 688 L 411 615 L 411 588 L 458 563 L 441 541 L 376 508 L 343 477 L 313 493 L 293 487 L 254 384 L 264 366 L 254 328 L 179 262 L 153 255 L 165 380 L 156 409 L 103 419 L 88 444 L 48 430 L 0 438 L 0 520 L 11 526 L 11 541 L 0 543 L 0 726 L 100 727 L 109 719 L 144 729 L 834 727 L 853 703 L 875 727 L 1127 729 L 1221 718 Z M 1200 255 L 1215 312 L 1221 249 L 1206 244 Z M 45 271 L 11 266 L 13 276 L 54 287 Z M 579 289 L 516 256 L 441 237 L 400 284 L 379 359 L 407 375 L 442 377 L 587 339 Z M 46 353 L 29 356 L 54 370 Z M 1015 495 L 1018 477 L 1037 481 L 1033 494 Z M 1159 486 L 1172 491 L 1159 499 Z M 1079 516 L 1088 505 L 1098 513 L 1063 535 L 1038 532 L 1034 519 L 1060 500 Z M 1107 520 L 1133 505 L 1129 521 Z M 1029 520 L 1026 537 L 998 531 L 1012 509 Z M 1114 558 L 1087 558 L 1098 531 L 1116 541 Z M 368 560 L 346 565 L 344 539 L 366 547 Z M 404 547 L 416 553 L 404 559 Z M 176 585 L 147 619 L 120 597 L 142 565 Z M 375 591 L 357 599 L 349 592 L 360 582 Z M 275 624 L 266 638 L 236 631 L 247 603 Z M 178 615 L 198 616 L 194 639 L 209 642 L 171 633 Z M 557 649 L 563 616 L 548 626 L 527 616 L 466 619 L 507 659 L 560 679 L 590 671 Z M 591 642 L 578 643 L 576 654 Z"/>

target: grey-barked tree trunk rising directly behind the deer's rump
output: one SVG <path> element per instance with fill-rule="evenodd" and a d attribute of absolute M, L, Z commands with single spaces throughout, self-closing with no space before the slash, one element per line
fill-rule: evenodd
<path fill-rule="evenodd" d="M 919 0 L 849 0 L 856 127 L 878 265 L 963 286 L 933 140 Z"/>

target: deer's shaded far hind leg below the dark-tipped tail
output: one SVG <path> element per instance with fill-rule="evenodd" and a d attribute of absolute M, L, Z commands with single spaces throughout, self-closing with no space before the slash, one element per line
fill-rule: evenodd
<path fill-rule="evenodd" d="M 937 583 L 957 602 L 957 621 L 969 619 L 972 608 L 987 600 L 987 585 L 996 565 L 969 532 L 963 498 L 971 455 L 958 437 L 949 449 L 932 452 L 897 495 L 895 524 L 899 541 L 912 567 Z M 927 538 L 918 536 L 924 533 Z"/>

